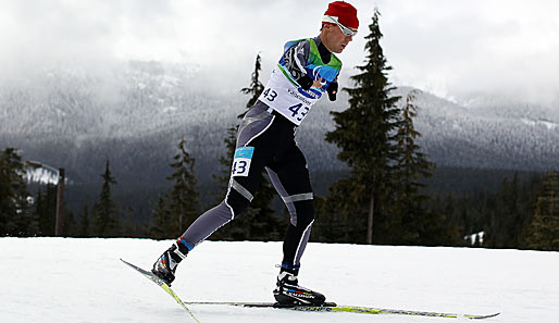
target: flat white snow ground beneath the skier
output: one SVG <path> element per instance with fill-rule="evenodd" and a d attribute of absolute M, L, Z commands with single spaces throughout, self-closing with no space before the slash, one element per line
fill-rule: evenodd
<path fill-rule="evenodd" d="M 194 322 L 149 269 L 170 240 L 0 238 L 0 322 Z M 177 270 L 185 301 L 272 301 L 281 243 L 206 241 Z M 310 244 L 299 281 L 339 305 L 485 314 L 483 322 L 559 322 L 559 253 Z M 191 306 L 211 322 L 473 322 Z"/>

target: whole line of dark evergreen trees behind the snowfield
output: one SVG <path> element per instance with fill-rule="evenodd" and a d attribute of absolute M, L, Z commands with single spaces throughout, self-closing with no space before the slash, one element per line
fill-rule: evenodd
<path fill-rule="evenodd" d="M 421 151 L 421 136 L 413 125 L 419 113 L 417 91 L 406 98 L 393 96 L 387 65 L 380 40 L 380 13 L 374 12 L 365 37 L 367 57 L 350 77 L 353 87 L 349 108 L 332 112 L 335 129 L 325 140 L 339 148 L 337 158 L 349 173 L 333 184 L 330 194 L 315 198 L 316 218 L 311 239 L 328 243 L 384 245 L 464 246 L 464 237 L 476 234 L 474 245 L 492 248 L 533 248 L 559 250 L 559 182 L 550 172 L 532 183 L 519 183 L 514 176 L 502 182 L 493 196 L 430 196 L 425 178 L 435 164 Z M 250 108 L 263 86 L 259 80 L 260 54 L 257 55 L 251 84 L 241 89 L 251 95 Z M 403 104 L 399 104 L 402 101 Z M 244 113 L 238 117 L 241 119 Z M 225 189 L 235 149 L 236 126 L 224 139 L 227 153 L 220 159 L 223 170 L 214 179 Z M 169 192 L 158 197 L 149 224 L 134 221 L 132 210 L 117 207 L 111 197 L 116 179 L 107 161 L 99 198 L 91 210 L 84 206 L 77 223 L 66 212 L 64 235 L 72 236 L 148 236 L 175 238 L 200 213 L 195 159 L 188 142 L 178 142 L 177 154 L 170 163 L 173 174 Z M 52 186 L 39 188 L 29 198 L 25 172 L 16 150 L 2 153 L 0 178 L 0 234 L 9 236 L 52 235 Z M 274 190 L 268 181 L 256 195 L 250 208 L 239 219 L 218 231 L 215 239 L 280 240 L 286 222 L 274 215 L 270 203 Z M 218 197 L 223 198 L 223 197 Z M 89 215 L 91 212 L 91 215 Z M 480 234 L 477 234 L 480 233 Z M 483 233 L 483 234 L 482 234 Z"/>

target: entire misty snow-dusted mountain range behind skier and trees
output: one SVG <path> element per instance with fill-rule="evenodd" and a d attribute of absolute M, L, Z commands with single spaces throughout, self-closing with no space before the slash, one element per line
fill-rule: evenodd
<path fill-rule="evenodd" d="M 133 61 L 108 73 L 52 67 L 4 80 L 0 148 L 16 147 L 24 160 L 65 167 L 75 184 L 99 183 L 110 160 L 119 182 L 157 186 L 165 184 L 167 164 L 185 138 L 198 179 L 211 181 L 222 171 L 218 158 L 225 154 L 226 129 L 249 97 L 208 89 L 197 73 L 185 65 Z M 393 94 L 405 97 L 409 90 Z M 458 103 L 427 92 L 415 104 L 420 145 L 439 165 L 536 171 L 559 165 L 559 107 L 487 95 Z M 328 112 L 347 107 L 345 92 L 334 103 L 322 100 L 298 129 L 311 170 L 344 167 L 324 134 L 334 128 Z"/>

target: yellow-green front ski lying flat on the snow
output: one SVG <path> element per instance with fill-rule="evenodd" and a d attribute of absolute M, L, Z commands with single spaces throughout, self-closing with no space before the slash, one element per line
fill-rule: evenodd
<path fill-rule="evenodd" d="M 338 306 L 334 302 L 326 302 L 322 306 L 306 306 L 306 305 L 278 305 L 274 302 L 235 302 L 235 301 L 190 301 L 187 305 L 214 305 L 214 306 L 236 306 L 244 308 L 274 308 L 286 309 L 295 311 L 307 312 L 347 312 L 347 313 L 364 313 L 364 314 L 400 314 L 413 316 L 432 316 L 432 318 L 465 318 L 470 320 L 481 320 L 495 318 L 499 313 L 487 315 L 475 314 L 456 314 L 456 313 L 442 313 L 442 312 L 424 312 L 424 311 L 410 311 L 410 310 L 393 310 L 371 307 L 355 307 L 355 306 Z"/>

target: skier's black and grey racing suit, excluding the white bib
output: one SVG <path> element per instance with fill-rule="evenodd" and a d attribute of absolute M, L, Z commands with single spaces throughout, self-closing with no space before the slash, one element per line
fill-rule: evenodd
<path fill-rule="evenodd" d="M 330 51 L 322 45 L 320 37 L 314 38 L 314 41 L 319 46 L 321 59 L 327 63 Z M 301 41 L 284 53 L 286 67 L 301 84 L 309 82 L 305 69 L 300 69 L 305 66 L 308 51 L 309 42 Z M 299 268 L 314 221 L 314 209 L 307 161 L 295 141 L 296 128 L 294 123 L 258 100 L 245 115 L 237 133 L 237 148 L 253 148 L 248 175 L 244 169 L 246 164 L 234 164 L 225 199 L 201 214 L 186 229 L 181 241 L 192 249 L 221 226 L 239 216 L 259 187 L 260 174 L 266 170 L 290 214 L 283 245 L 282 266 Z M 235 175 L 236 171 L 244 172 L 245 176 Z"/>

